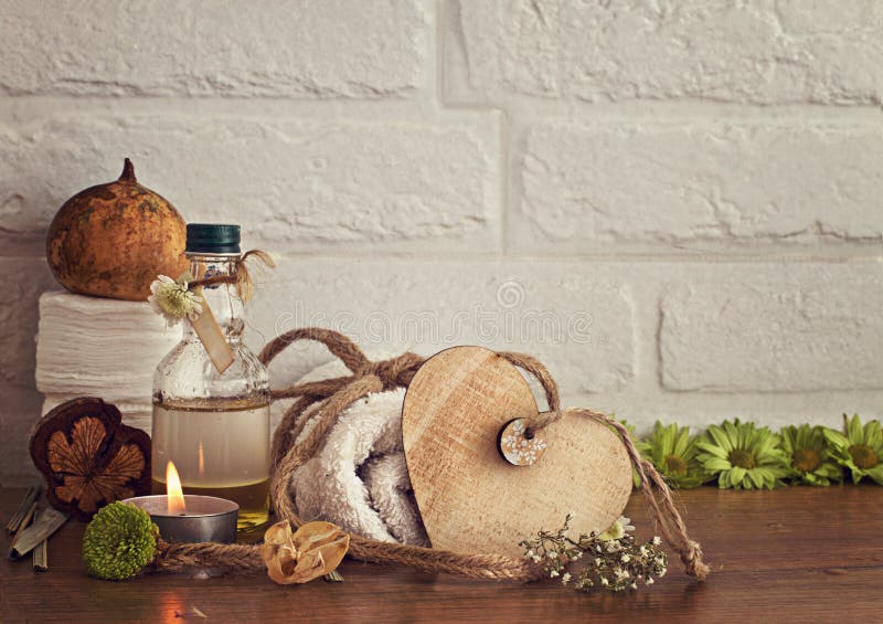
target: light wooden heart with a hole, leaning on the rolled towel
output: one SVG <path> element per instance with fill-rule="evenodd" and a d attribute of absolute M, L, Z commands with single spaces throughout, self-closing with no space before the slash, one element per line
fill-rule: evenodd
<path fill-rule="evenodd" d="M 536 402 L 518 369 L 481 347 L 455 347 L 428 359 L 405 394 L 402 432 L 411 484 L 433 548 L 523 554 L 541 529 L 607 529 L 631 491 L 631 467 L 605 425 L 565 416 L 542 430 L 547 444 L 532 466 L 513 466 L 498 448 L 512 419 L 535 417 Z"/>

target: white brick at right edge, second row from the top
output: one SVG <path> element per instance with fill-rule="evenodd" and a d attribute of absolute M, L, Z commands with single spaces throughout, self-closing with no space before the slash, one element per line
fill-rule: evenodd
<path fill-rule="evenodd" d="M 549 124 L 523 146 L 519 248 L 883 236 L 876 126 Z"/>

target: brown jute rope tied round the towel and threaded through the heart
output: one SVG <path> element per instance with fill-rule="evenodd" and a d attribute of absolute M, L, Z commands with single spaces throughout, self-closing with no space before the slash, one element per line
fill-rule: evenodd
<path fill-rule="evenodd" d="M 397 358 L 372 362 L 364 352 L 349 338 L 315 327 L 295 329 L 268 342 L 258 358 L 268 366 L 289 345 L 312 340 L 325 345 L 340 359 L 352 374 L 294 384 L 281 390 L 274 390 L 274 400 L 297 399 L 285 412 L 283 421 L 276 429 L 272 444 L 274 470 L 270 480 L 276 514 L 288 520 L 294 527 L 302 525 L 297 515 L 297 505 L 288 484 L 297 468 L 312 457 L 325 443 L 328 432 L 338 416 L 355 401 L 374 392 L 406 388 L 414 379 L 424 358 L 406 352 Z M 709 573 L 702 561 L 699 543 L 691 540 L 687 527 L 679 514 L 671 491 L 664 479 L 649 462 L 642 459 L 635 448 L 628 431 L 614 419 L 592 410 L 561 410 L 557 385 L 545 367 L 538 360 L 523 353 L 501 352 L 500 357 L 532 374 L 545 392 L 549 412 L 540 414 L 530 425 L 530 431 L 540 431 L 563 417 L 575 414 L 591 417 L 614 427 L 623 440 L 623 444 L 641 478 L 641 491 L 653 521 L 660 528 L 666 541 L 680 554 L 688 574 L 700 580 Z M 307 437 L 295 445 L 302 432 L 304 423 L 298 419 L 305 410 L 316 405 L 316 424 Z M 305 419 L 306 420 L 306 419 Z M 653 493 L 653 488 L 658 495 Z M 474 579 L 493 579 L 509 581 L 531 581 L 542 575 L 540 565 L 526 560 L 497 554 L 461 554 L 430 548 L 382 542 L 362 536 L 350 536 L 349 554 L 362 561 L 374 563 L 395 563 L 408 565 L 424 572 L 447 572 Z M 183 567 L 201 565 L 205 568 L 224 568 L 230 570 L 263 569 L 259 547 L 238 544 L 168 544 L 160 542 L 155 565 L 164 570 L 177 570 Z"/>

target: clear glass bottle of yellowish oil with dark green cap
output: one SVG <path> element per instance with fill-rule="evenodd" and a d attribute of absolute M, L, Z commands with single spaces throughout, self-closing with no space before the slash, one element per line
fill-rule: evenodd
<path fill-rule="evenodd" d="M 187 256 L 194 279 L 235 275 L 240 226 L 191 223 Z M 166 494 L 172 462 L 184 494 L 219 496 L 240 505 L 238 530 L 263 525 L 269 507 L 269 379 L 242 341 L 243 302 L 235 284 L 202 287 L 233 363 L 219 373 L 193 326 L 153 374 L 152 482 Z"/>

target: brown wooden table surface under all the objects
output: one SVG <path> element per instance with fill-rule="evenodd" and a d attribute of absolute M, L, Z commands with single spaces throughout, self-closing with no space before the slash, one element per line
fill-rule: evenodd
<path fill-rule="evenodd" d="M 22 494 L 0 490 L 3 525 Z M 215 622 L 883 620 L 883 488 L 703 487 L 680 497 L 712 568 L 704 583 L 683 575 L 674 560 L 657 584 L 621 594 L 584 594 L 553 581 L 469 581 L 357 561 L 344 561 L 347 580 L 339 584 L 280 586 L 263 574 L 107 582 L 86 577 L 78 554 L 84 525 L 72 521 L 50 542 L 49 572 L 32 572 L 30 557 L 0 563 L 0 622 L 182 622 L 180 615 L 193 606 Z M 651 535 L 635 495 L 627 515 L 639 536 Z M 8 551 L 9 537 L 3 539 Z"/>

